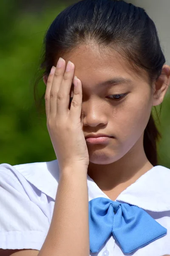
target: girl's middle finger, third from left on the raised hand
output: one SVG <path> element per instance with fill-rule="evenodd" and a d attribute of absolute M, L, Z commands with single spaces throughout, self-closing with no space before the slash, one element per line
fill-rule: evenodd
<path fill-rule="evenodd" d="M 57 114 L 62 115 L 69 112 L 68 105 L 70 101 L 71 84 L 74 76 L 74 64 L 68 61 L 62 84 L 57 94 Z"/>

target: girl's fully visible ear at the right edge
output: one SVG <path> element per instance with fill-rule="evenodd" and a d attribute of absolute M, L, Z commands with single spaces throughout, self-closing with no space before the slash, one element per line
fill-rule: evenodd
<path fill-rule="evenodd" d="M 154 84 L 154 92 L 153 92 L 153 106 L 160 105 L 164 96 L 167 93 L 168 87 L 170 85 L 170 66 L 164 65 L 162 67 L 162 72 L 159 78 L 156 80 Z"/>

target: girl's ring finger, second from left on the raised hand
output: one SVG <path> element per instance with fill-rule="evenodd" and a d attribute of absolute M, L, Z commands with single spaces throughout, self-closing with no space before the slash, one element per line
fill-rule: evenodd
<path fill-rule="evenodd" d="M 57 94 L 59 87 L 62 83 L 62 78 L 65 72 L 65 60 L 59 58 L 57 62 L 57 67 L 54 73 L 54 78 L 52 81 L 51 91 L 50 91 L 50 114 L 56 115 L 57 113 Z"/>

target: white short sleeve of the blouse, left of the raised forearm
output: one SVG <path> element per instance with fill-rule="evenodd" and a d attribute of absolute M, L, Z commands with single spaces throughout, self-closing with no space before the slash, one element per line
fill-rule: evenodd
<path fill-rule="evenodd" d="M 50 223 L 36 200 L 23 175 L 0 164 L 0 248 L 41 249 Z"/>

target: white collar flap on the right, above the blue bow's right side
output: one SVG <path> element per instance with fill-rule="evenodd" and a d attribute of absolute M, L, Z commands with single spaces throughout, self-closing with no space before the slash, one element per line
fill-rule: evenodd
<path fill-rule="evenodd" d="M 154 166 L 125 189 L 117 200 L 154 212 L 170 211 L 170 169 Z"/>

